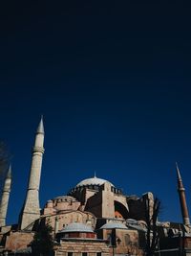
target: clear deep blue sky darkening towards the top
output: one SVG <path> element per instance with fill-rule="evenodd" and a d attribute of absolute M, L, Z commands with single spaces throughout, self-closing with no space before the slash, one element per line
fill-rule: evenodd
<path fill-rule="evenodd" d="M 160 220 L 181 221 L 176 161 L 191 212 L 191 10 L 175 1 L 76 2 L 1 7 L 8 221 L 25 198 L 41 114 L 42 207 L 96 171 L 127 195 L 152 191 Z"/>

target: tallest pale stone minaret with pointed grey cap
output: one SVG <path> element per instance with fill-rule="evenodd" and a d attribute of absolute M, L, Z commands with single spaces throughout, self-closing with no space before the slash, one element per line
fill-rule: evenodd
<path fill-rule="evenodd" d="M 28 183 L 27 196 L 20 213 L 20 229 L 32 229 L 30 224 L 40 217 L 39 186 L 42 167 L 42 156 L 44 153 L 44 126 L 41 118 L 36 130 L 34 146 L 32 149 L 32 165 Z"/>

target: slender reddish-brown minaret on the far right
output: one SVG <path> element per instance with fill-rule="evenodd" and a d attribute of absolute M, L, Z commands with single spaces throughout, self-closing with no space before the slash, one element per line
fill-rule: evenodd
<path fill-rule="evenodd" d="M 190 219 L 189 219 L 188 209 L 187 209 L 187 204 L 186 204 L 185 189 L 183 187 L 183 183 L 182 183 L 181 176 L 180 176 L 180 170 L 179 170 L 177 163 L 176 163 L 176 167 L 177 167 L 178 192 L 179 192 L 179 197 L 180 197 L 180 208 L 181 208 L 183 224 L 189 225 Z"/>

